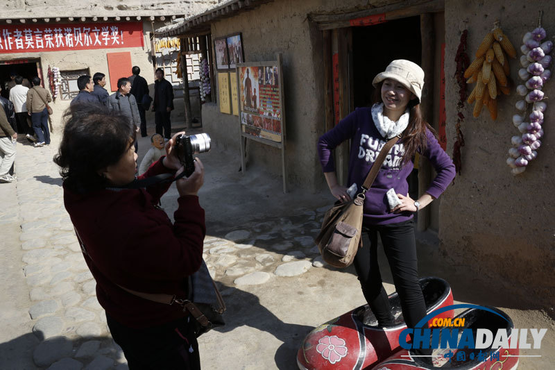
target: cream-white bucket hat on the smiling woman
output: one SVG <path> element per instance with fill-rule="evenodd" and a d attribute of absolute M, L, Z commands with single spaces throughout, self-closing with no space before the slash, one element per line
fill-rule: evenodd
<path fill-rule="evenodd" d="M 424 71 L 416 63 L 410 60 L 398 59 L 389 63 L 385 72 L 377 74 L 372 81 L 372 85 L 377 87 L 377 84 L 384 81 L 386 78 L 399 81 L 407 87 L 410 92 L 416 95 L 420 103 L 422 96 L 422 87 L 424 87 Z"/>

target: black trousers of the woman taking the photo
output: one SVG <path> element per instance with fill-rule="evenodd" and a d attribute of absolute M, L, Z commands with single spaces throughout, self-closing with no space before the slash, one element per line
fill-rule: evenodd
<path fill-rule="evenodd" d="M 200 370 L 198 342 L 185 317 L 153 328 L 134 329 L 106 314 L 112 338 L 130 370 Z"/>

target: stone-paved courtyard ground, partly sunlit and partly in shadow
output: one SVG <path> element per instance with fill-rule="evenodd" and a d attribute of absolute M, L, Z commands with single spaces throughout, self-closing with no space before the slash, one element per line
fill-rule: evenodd
<path fill-rule="evenodd" d="M 37 149 L 19 143 L 17 182 L 0 185 L 0 368 L 127 369 L 63 207 L 52 162 L 58 140 L 53 135 L 51 146 Z M 148 145 L 148 137 L 139 140 L 139 155 Z M 259 168 L 237 174 L 238 158 L 229 153 L 201 158 L 204 257 L 228 305 L 226 326 L 200 337 L 203 369 L 296 369 L 309 330 L 364 303 L 352 269 L 324 266 L 312 243 L 330 197 L 296 189 L 281 194 L 279 176 Z M 170 217 L 176 199 L 175 187 L 162 199 Z M 438 264 L 437 254 L 434 246 L 420 246 L 421 275 L 450 281 L 455 298 L 506 307 L 516 327 L 549 328 L 544 346 L 555 347 L 555 326 L 544 312 L 515 309 L 506 295 L 480 289 L 477 278 Z M 392 292 L 391 275 L 382 274 Z M 520 368 L 550 369 L 545 364 L 555 355 L 542 355 L 522 359 Z"/>

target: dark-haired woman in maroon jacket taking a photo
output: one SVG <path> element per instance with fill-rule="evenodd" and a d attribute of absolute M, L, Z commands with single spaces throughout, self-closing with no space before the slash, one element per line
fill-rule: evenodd
<path fill-rule="evenodd" d="M 175 222 L 157 203 L 171 183 L 121 188 L 135 179 L 135 127 L 117 112 L 75 104 L 54 162 L 64 178 L 65 208 L 96 280 L 114 341 L 133 369 L 200 369 L 192 320 L 180 305 L 140 298 L 135 292 L 187 298 L 188 276 L 202 262 L 205 215 L 197 192 L 204 169 L 196 160 L 189 178 L 176 181 Z M 173 136 L 166 153 L 140 178 L 180 174 Z"/>

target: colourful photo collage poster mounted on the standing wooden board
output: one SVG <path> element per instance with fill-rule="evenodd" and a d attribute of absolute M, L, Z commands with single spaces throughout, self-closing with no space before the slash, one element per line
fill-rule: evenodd
<path fill-rule="evenodd" d="M 239 67 L 239 102 L 244 133 L 282 142 L 278 66 Z"/>

